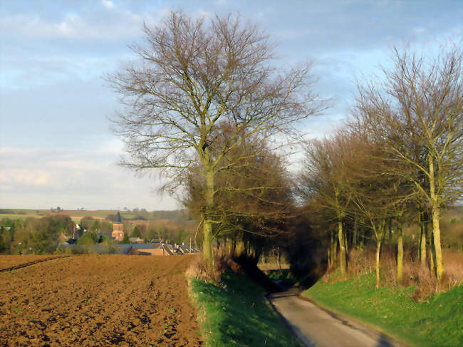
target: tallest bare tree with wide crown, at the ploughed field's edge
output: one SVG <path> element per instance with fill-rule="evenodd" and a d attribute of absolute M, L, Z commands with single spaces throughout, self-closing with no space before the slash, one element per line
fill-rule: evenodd
<path fill-rule="evenodd" d="M 222 166 L 222 159 L 246 137 L 289 134 L 321 110 L 310 90 L 311 64 L 278 71 L 268 38 L 231 15 L 207 21 L 174 12 L 144 31 L 145 43 L 132 46 L 140 61 L 108 77 L 125 106 L 114 118 L 129 154 L 122 165 L 159 169 L 173 187 L 190 170 L 204 176 L 203 252 L 212 264 L 216 175 L 240 162 Z M 222 126 L 233 131 L 212 152 Z"/>

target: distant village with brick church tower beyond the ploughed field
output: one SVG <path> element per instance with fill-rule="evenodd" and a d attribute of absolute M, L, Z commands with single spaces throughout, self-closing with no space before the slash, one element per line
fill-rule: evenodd
<path fill-rule="evenodd" d="M 175 254 L 189 254 L 199 252 L 199 248 L 190 244 L 169 244 L 163 239 L 152 239 L 145 242 L 140 237 L 128 237 L 129 243 L 121 243 L 125 237 L 123 220 L 120 212 L 116 214 L 112 232 L 97 232 L 96 237 L 110 240 L 107 244 L 78 244 L 78 239 L 85 234 L 79 224 L 73 224 L 71 237 L 62 235 L 58 249 L 65 253 L 95 253 L 95 254 L 127 254 L 127 255 L 155 255 L 168 256 Z"/>

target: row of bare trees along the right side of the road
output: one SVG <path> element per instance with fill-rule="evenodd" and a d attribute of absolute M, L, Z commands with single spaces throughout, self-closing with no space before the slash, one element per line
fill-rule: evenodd
<path fill-rule="evenodd" d="M 345 225 L 370 232 L 380 247 L 387 230 L 397 232 L 397 278 L 402 279 L 403 225 L 421 227 L 420 259 L 442 281 L 441 210 L 462 197 L 462 53 L 424 58 L 394 51 L 382 82 L 359 86 L 353 120 L 325 140 L 306 147 L 298 193 L 337 225 L 340 270 L 345 274 Z M 418 216 L 418 219 L 415 218 Z M 333 251 L 331 251 L 333 254 Z"/>

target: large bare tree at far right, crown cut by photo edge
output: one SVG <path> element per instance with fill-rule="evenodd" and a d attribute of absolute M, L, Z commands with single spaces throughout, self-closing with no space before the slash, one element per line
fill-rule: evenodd
<path fill-rule="evenodd" d="M 426 59 L 396 49 L 392 62 L 391 69 L 383 69 L 383 85 L 360 87 L 357 111 L 376 138 L 387 142 L 392 160 L 401 164 L 396 167 L 416 172 L 397 170 L 431 209 L 440 283 L 440 209 L 463 192 L 462 52 L 452 48 Z"/>

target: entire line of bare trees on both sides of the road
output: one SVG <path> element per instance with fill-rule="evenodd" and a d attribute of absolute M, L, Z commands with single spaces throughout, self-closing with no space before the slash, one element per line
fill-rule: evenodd
<path fill-rule="evenodd" d="M 170 179 L 165 190 L 180 191 L 199 221 L 209 268 L 213 244 L 255 261 L 266 247 L 303 238 L 295 230 L 304 223 L 323 234 L 321 219 L 336 227 L 328 227 L 328 258 L 338 244 L 343 274 L 349 242 L 374 240 L 379 282 L 387 230 L 398 235 L 400 276 L 402 228 L 413 215 L 420 259 L 442 279 L 441 211 L 462 192 L 459 48 L 429 57 L 393 51 L 380 80 L 359 83 L 350 122 L 304 144 L 294 182 L 288 154 L 301 143 L 303 120 L 328 108 L 314 91 L 312 64 L 276 67 L 268 36 L 231 14 L 172 12 L 143 31 L 145 41 L 131 46 L 139 63 L 108 76 L 123 103 L 113 118 L 128 154 L 120 165 Z M 312 221 L 301 204 L 318 211 Z"/>

